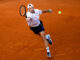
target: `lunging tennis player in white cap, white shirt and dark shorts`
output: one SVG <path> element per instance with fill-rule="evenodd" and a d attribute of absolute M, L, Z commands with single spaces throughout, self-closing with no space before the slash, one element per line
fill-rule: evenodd
<path fill-rule="evenodd" d="M 40 21 L 39 18 L 40 18 L 40 14 L 50 13 L 52 12 L 52 10 L 51 9 L 48 9 L 48 10 L 34 9 L 33 4 L 28 4 L 27 8 L 28 8 L 28 12 L 26 13 L 26 16 L 27 16 L 26 20 L 28 22 L 28 25 L 35 34 L 38 34 L 39 36 L 42 37 L 47 50 L 47 56 L 51 57 L 48 43 L 52 45 L 52 40 L 50 38 L 50 35 L 45 35 L 43 23 L 42 21 Z"/>

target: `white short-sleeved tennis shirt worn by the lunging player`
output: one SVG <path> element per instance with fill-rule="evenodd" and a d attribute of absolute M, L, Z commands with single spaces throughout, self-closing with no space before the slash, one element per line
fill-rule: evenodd
<path fill-rule="evenodd" d="M 35 13 L 31 13 L 29 11 L 26 13 L 27 18 L 29 17 L 32 19 L 28 21 L 28 25 L 30 27 L 36 27 L 36 26 L 39 26 L 40 24 L 39 18 L 40 18 L 40 14 L 42 14 L 42 10 L 34 9 L 34 11 Z"/>

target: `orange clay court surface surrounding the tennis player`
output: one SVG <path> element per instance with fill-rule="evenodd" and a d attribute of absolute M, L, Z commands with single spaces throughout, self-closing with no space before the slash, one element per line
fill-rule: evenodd
<path fill-rule="evenodd" d="M 53 40 L 52 58 L 46 57 L 42 38 L 19 15 L 24 0 L 0 0 L 0 60 L 80 60 L 80 0 L 33 0 L 32 3 L 35 8 L 53 10 L 40 18 L 46 34 Z"/>

